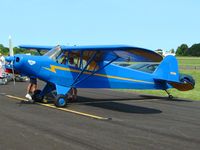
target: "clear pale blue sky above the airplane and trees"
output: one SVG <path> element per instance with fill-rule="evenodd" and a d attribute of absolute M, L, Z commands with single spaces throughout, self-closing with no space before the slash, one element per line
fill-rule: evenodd
<path fill-rule="evenodd" d="M 200 43 L 199 0 L 0 0 L 8 46 L 127 44 L 176 49 Z"/>

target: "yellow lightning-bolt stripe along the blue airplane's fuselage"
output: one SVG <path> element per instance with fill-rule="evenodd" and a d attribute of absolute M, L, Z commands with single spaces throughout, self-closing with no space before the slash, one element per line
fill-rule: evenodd
<path fill-rule="evenodd" d="M 56 73 L 56 70 L 62 70 L 62 71 L 70 71 L 70 72 L 76 72 L 80 73 L 80 70 L 76 69 L 71 69 L 67 67 L 61 67 L 61 66 L 55 66 L 55 65 L 50 65 L 50 68 L 43 67 L 46 70 L 49 70 L 51 72 Z M 83 72 L 83 74 L 92 74 L 91 72 Z M 130 79 L 130 78 L 124 78 L 124 77 L 119 77 L 119 76 L 112 76 L 112 75 L 106 75 L 106 74 L 94 74 L 95 76 L 100 76 L 100 77 L 106 77 L 106 78 L 112 78 L 112 79 L 119 79 L 119 80 L 125 80 L 125 81 L 133 81 L 133 82 L 143 82 L 147 84 L 154 84 L 153 82 L 148 82 L 148 81 L 142 81 L 142 80 L 135 80 L 135 79 Z"/>

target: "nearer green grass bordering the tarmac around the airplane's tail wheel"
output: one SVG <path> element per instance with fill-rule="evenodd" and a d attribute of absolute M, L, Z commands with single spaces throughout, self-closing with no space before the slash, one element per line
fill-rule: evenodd
<path fill-rule="evenodd" d="M 184 98 L 190 100 L 200 100 L 200 70 L 184 70 L 181 73 L 192 75 L 196 81 L 195 88 L 190 91 L 178 91 L 176 89 L 170 89 L 169 92 L 177 98 Z M 138 92 L 143 94 L 152 94 L 157 96 L 167 96 L 165 91 L 162 90 L 129 90 L 132 92 Z"/>

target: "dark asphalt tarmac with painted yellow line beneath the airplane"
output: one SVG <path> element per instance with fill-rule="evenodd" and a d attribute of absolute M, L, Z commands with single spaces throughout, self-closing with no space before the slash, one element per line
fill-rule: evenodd
<path fill-rule="evenodd" d="M 200 149 L 200 101 L 78 89 L 59 110 L 21 103 L 27 84 L 0 86 L 0 150 Z"/>

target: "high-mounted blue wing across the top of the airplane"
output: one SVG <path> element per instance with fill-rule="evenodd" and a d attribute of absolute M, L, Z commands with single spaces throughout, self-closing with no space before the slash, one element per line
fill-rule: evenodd
<path fill-rule="evenodd" d="M 34 46 L 34 45 L 20 45 L 20 48 L 50 50 L 55 46 Z M 118 57 L 116 61 L 129 62 L 160 62 L 163 57 L 158 53 L 127 45 L 96 45 L 96 46 L 64 46 L 61 45 L 63 51 L 99 51 L 100 56 L 97 61 L 110 61 Z"/>

